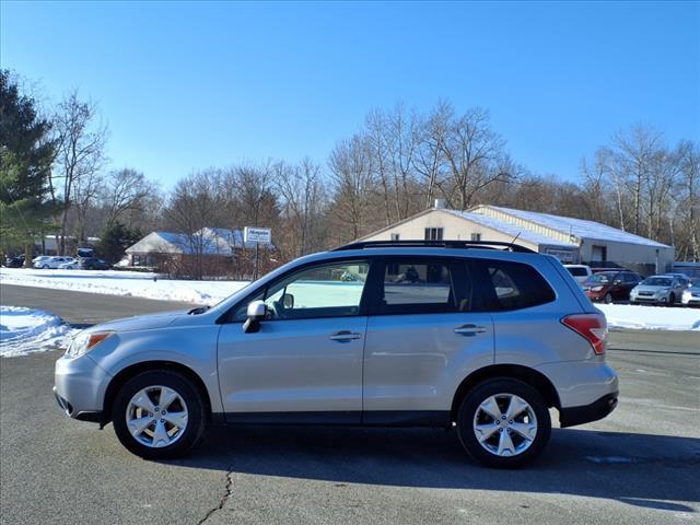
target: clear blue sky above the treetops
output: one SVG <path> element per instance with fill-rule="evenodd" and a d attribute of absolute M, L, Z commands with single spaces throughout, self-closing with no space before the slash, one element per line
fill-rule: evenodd
<path fill-rule="evenodd" d="M 115 167 L 164 187 L 324 163 L 368 110 L 482 106 L 513 158 L 575 180 L 643 121 L 700 138 L 700 3 L 7 2 L 0 63 L 98 102 Z"/>

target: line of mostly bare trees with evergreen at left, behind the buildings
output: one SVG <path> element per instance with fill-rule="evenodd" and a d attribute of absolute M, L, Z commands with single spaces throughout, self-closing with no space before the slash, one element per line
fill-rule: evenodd
<path fill-rule="evenodd" d="M 691 140 L 668 144 L 650 126 L 616 133 L 569 182 L 512 159 L 483 108 L 458 112 L 439 101 L 419 112 L 397 104 L 369 112 L 323 162 L 212 167 L 164 192 L 138 170 L 112 167 L 94 103 L 73 91 L 42 110 L 12 73 L 2 71 L 0 82 L 5 250 L 31 249 L 47 233 L 63 242 L 120 238 L 126 247 L 154 230 L 195 235 L 202 228 L 267 226 L 273 266 L 366 235 L 441 198 L 458 210 L 488 203 L 590 219 L 673 244 L 678 259 L 700 260 L 700 149 Z"/>

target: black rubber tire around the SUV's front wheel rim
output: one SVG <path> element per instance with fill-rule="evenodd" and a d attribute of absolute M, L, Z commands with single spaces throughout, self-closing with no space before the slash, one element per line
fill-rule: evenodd
<path fill-rule="evenodd" d="M 166 386 L 175 390 L 187 406 L 187 424 L 182 435 L 171 445 L 159 448 L 137 441 L 127 425 L 127 408 L 131 398 L 149 386 Z M 127 450 L 144 459 L 165 459 L 184 456 L 197 446 L 207 430 L 209 413 L 202 395 L 189 378 L 177 372 L 158 370 L 143 372 L 125 383 L 114 400 L 112 419 L 115 433 Z"/>

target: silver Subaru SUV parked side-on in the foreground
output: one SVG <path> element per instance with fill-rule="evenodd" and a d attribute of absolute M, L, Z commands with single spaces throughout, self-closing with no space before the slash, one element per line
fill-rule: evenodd
<path fill-rule="evenodd" d="M 365 242 L 207 308 L 94 326 L 56 363 L 72 418 L 145 458 L 212 422 L 456 428 L 494 467 L 617 405 L 607 326 L 555 258 L 506 243 Z"/>

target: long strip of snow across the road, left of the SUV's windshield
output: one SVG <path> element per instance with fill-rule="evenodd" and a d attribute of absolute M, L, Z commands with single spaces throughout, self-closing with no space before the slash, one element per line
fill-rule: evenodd
<path fill-rule="evenodd" d="M 22 287 L 131 295 L 209 305 L 217 304 L 247 284 L 242 281 L 160 279 L 156 273 L 138 271 L 36 270 L 28 268 L 1 268 L 0 282 Z"/>

